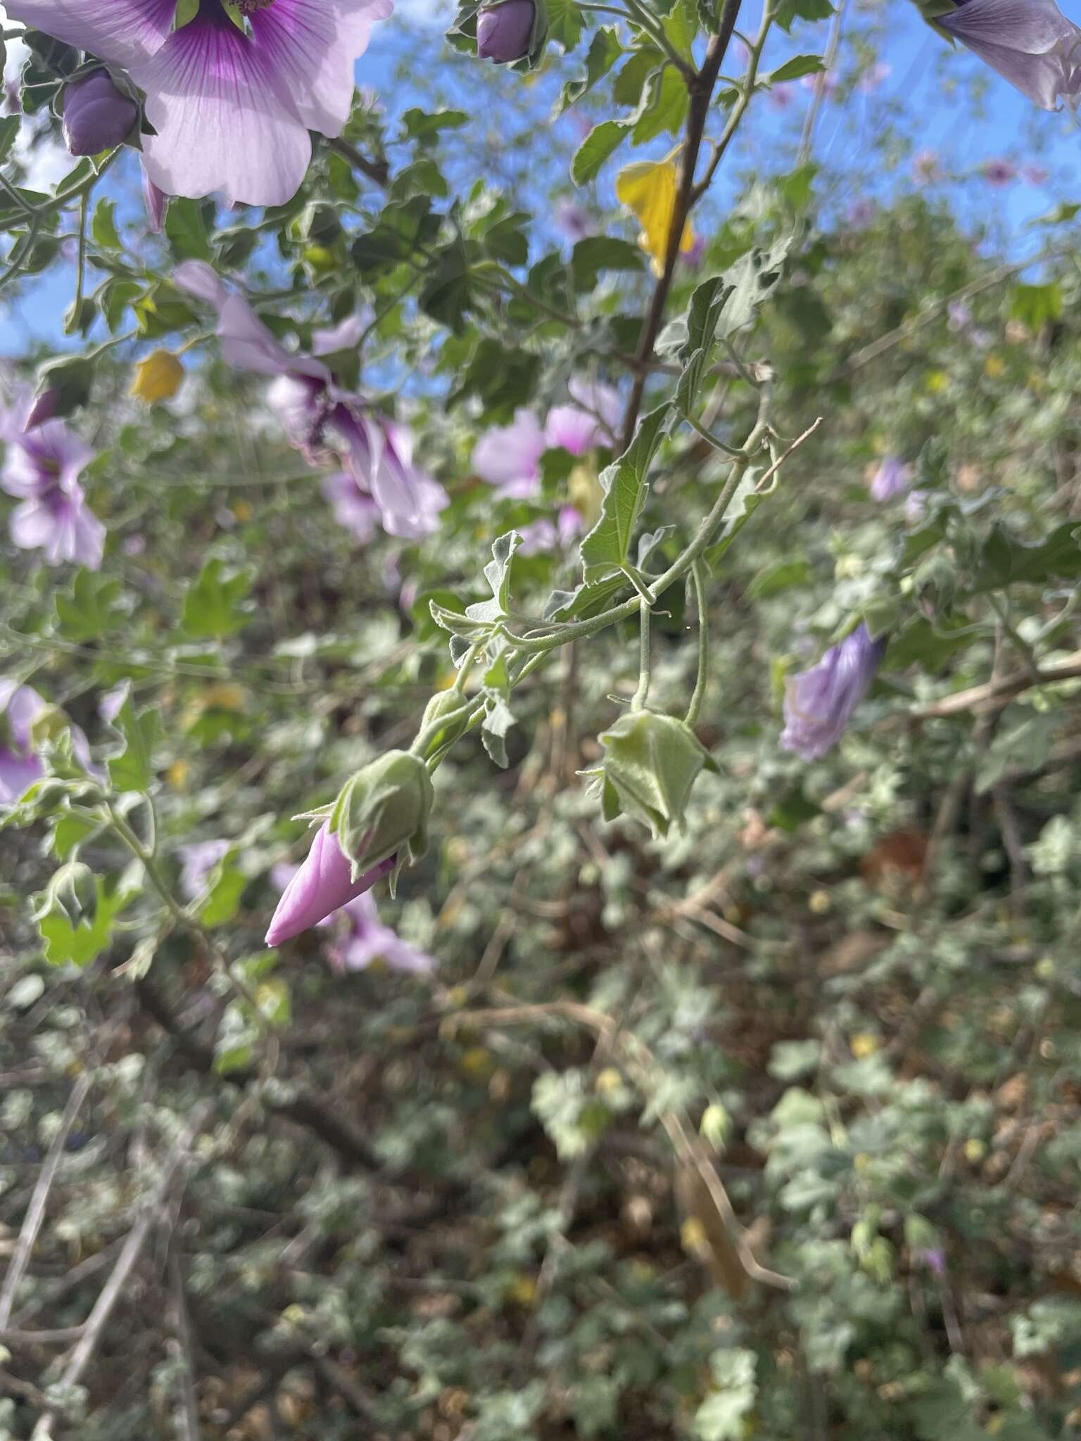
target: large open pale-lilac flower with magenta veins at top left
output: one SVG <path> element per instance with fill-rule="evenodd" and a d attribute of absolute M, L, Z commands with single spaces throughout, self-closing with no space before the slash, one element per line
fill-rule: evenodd
<path fill-rule="evenodd" d="M 284 205 L 311 137 L 340 135 L 353 65 L 392 0 L 245 0 L 245 27 L 202 0 L 174 27 L 176 0 L 9 0 L 16 20 L 123 65 L 146 91 L 147 173 L 167 195 Z"/>

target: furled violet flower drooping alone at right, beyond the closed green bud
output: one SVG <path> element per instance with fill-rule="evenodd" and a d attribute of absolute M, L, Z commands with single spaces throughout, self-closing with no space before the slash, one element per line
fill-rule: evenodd
<path fill-rule="evenodd" d="M 886 653 L 886 638 L 872 640 L 860 624 L 839 646 L 830 646 L 817 666 L 788 682 L 781 745 L 804 761 L 832 749 L 871 689 Z"/>

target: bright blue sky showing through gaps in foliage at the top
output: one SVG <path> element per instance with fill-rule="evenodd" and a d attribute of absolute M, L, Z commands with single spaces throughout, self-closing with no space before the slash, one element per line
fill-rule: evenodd
<path fill-rule="evenodd" d="M 381 92 L 386 108 L 398 111 L 427 94 L 422 76 L 441 69 L 455 99 L 468 104 L 471 65 L 476 62 L 457 56 L 441 40 L 453 9 L 450 0 L 398 0 L 395 19 L 376 29 L 372 48 L 357 66 L 357 82 Z M 754 9 L 749 7 L 751 20 Z M 1072 19 L 1081 20 L 1078 0 L 1064 4 L 1064 9 Z M 1072 14 L 1074 10 L 1078 13 Z M 849 33 L 859 33 L 876 46 L 885 73 L 871 94 L 856 92 L 845 107 L 833 102 L 823 105 L 816 154 L 846 169 L 873 153 L 876 135 L 907 135 L 912 148 L 933 150 L 938 156 L 967 222 L 987 228 L 992 242 L 1009 254 L 1023 255 L 1036 249 L 1038 236 L 1029 233 L 1029 222 L 1061 199 L 1081 200 L 1081 130 L 1075 118 L 1036 110 L 973 56 L 951 52 L 920 20 L 914 6 L 904 0 L 885 0 L 885 4 L 868 0 L 856 4 L 850 0 L 849 13 L 853 16 Z M 781 43 L 773 52 L 774 65 L 787 50 L 822 49 L 824 26 L 804 27 L 801 33 L 797 30 L 791 42 L 783 36 L 778 39 Z M 852 52 L 848 53 L 850 66 Z M 577 56 L 565 61 L 553 56 L 549 73 L 525 92 L 528 104 L 540 104 L 578 68 Z M 497 101 L 504 95 L 507 105 L 522 105 L 519 76 L 504 72 L 493 82 Z M 744 164 L 783 163 L 786 146 L 791 153 L 807 101 L 807 91 L 794 86 L 786 108 L 761 104 L 742 154 Z M 1038 166 L 1048 173 L 1046 182 L 1018 179 L 1006 187 L 989 186 L 980 166 L 999 156 L 1009 156 L 1019 166 Z M 66 169 L 65 160 L 46 151 L 37 163 L 45 166 L 48 179 L 56 179 Z M 118 184 L 134 197 L 137 167 L 133 164 L 128 169 L 131 173 L 121 176 Z M 614 171 L 615 164 L 610 169 Z M 892 173 L 868 170 L 859 183 L 859 193 L 885 197 L 897 186 L 907 184 L 911 184 L 911 176 L 904 161 Z M 611 174 L 602 173 L 602 199 L 611 197 L 610 189 Z M 858 197 L 853 190 L 850 199 Z M 50 347 L 63 344 L 61 317 L 71 290 L 71 275 L 62 267 L 48 278 L 26 285 L 14 304 L 6 313 L 0 311 L 0 353 L 10 354 L 35 342 Z"/>

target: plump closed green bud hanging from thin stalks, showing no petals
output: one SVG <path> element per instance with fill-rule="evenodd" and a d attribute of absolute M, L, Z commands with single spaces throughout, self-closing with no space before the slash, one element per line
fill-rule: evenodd
<path fill-rule="evenodd" d="M 699 771 L 716 764 L 689 725 L 656 710 L 631 710 L 601 736 L 605 820 L 633 816 L 654 836 L 683 824 Z"/>

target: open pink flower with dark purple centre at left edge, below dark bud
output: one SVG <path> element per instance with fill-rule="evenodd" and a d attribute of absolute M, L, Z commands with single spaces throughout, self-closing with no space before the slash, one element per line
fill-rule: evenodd
<path fill-rule="evenodd" d="M 22 501 L 12 512 L 12 542 L 23 550 L 43 550 L 49 565 L 74 561 L 97 571 L 105 526 L 79 484 L 94 451 L 63 421 L 26 431 L 32 406 L 23 396 L 10 409 L 0 409 L 0 440 L 6 447 L 0 487 Z"/>

